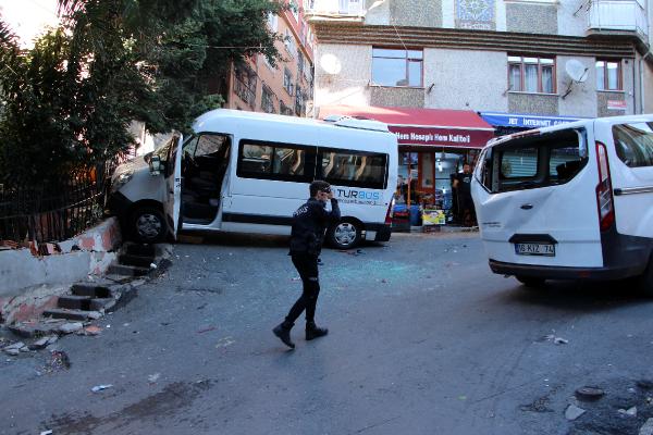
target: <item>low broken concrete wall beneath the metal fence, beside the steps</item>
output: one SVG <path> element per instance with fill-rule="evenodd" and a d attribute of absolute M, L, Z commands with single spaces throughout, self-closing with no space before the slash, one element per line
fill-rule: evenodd
<path fill-rule="evenodd" d="M 118 220 L 111 217 L 59 243 L 61 253 L 35 257 L 29 249 L 0 251 L 0 319 L 5 321 L 8 312 L 36 313 L 51 307 L 57 297 L 46 286 L 65 290 L 89 275 L 102 274 L 115 260 L 113 250 L 120 243 Z"/>

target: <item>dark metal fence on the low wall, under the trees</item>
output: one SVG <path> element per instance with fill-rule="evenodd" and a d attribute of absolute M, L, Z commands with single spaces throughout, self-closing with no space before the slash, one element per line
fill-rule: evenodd
<path fill-rule="evenodd" d="M 0 185 L 0 247 L 62 241 L 96 224 L 116 165 L 97 165 L 57 186 Z"/>

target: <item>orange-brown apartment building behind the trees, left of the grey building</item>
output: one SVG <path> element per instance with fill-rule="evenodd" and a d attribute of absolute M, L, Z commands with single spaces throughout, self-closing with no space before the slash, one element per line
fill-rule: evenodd
<path fill-rule="evenodd" d="M 312 115 L 313 34 L 304 9 L 291 0 L 291 10 L 270 15 L 268 26 L 283 36 L 278 42 L 283 60 L 272 66 L 258 54 L 232 65 L 224 108 L 291 116 Z"/>

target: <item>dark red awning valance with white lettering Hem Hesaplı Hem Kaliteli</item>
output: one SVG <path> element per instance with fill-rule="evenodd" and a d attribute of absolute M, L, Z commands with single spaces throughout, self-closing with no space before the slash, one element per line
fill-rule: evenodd
<path fill-rule="evenodd" d="M 458 129 L 442 127 L 408 127 L 389 125 L 399 145 L 436 145 L 444 147 L 482 148 L 494 137 L 490 129 Z"/>

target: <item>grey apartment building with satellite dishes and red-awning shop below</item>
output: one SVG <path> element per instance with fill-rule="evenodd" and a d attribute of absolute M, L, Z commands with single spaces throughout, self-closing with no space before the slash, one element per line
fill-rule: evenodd
<path fill-rule="evenodd" d="M 494 135 L 653 111 L 649 0 L 309 0 L 319 117 L 386 122 L 436 208 Z M 419 199 L 419 198 L 418 198 Z"/>

